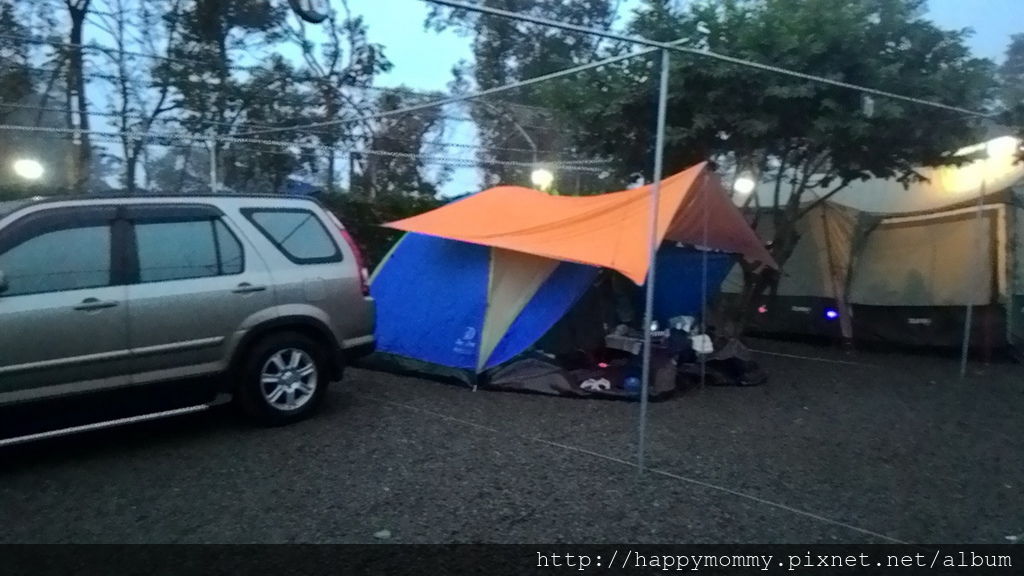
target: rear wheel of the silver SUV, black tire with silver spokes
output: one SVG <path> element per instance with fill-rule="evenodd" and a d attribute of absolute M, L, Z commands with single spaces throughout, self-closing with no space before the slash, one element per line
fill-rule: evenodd
<path fill-rule="evenodd" d="M 297 332 L 261 340 L 243 360 L 238 404 L 250 419 L 279 426 L 312 414 L 324 400 L 330 365 L 324 346 Z"/>

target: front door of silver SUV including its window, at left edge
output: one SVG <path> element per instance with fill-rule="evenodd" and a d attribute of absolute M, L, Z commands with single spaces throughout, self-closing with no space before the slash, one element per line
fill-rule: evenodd
<path fill-rule="evenodd" d="M 130 383 L 117 213 L 46 208 L 0 230 L 0 403 Z"/>

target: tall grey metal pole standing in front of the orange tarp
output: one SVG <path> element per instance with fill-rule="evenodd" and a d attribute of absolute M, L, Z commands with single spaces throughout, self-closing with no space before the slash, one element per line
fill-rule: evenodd
<path fill-rule="evenodd" d="M 647 436 L 647 402 L 650 389 L 650 325 L 654 321 L 654 264 L 657 261 L 657 208 L 662 193 L 662 171 L 665 161 L 665 118 L 669 100 L 669 50 L 662 50 L 662 78 L 657 93 L 657 131 L 654 139 L 654 184 L 650 192 L 650 245 L 647 253 L 647 294 L 643 315 L 643 371 L 640 383 L 640 431 L 637 442 L 637 469 L 644 472 L 644 451 Z"/>

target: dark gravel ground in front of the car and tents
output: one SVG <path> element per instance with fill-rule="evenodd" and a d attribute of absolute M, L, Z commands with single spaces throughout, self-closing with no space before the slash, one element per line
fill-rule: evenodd
<path fill-rule="evenodd" d="M 755 342 L 770 381 L 651 404 L 352 370 L 316 418 L 223 410 L 0 451 L 0 542 L 1006 542 L 1013 364 Z M 811 355 L 826 361 L 788 356 Z M 10 519 L 15 519 L 11 521 Z"/>

